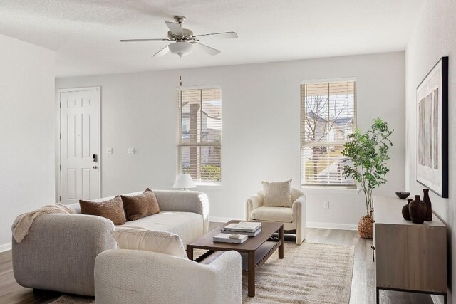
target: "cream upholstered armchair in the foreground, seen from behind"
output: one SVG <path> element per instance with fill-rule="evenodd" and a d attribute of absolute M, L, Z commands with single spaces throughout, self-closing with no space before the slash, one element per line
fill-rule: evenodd
<path fill-rule="evenodd" d="M 226 251 L 207 264 L 150 251 L 103 251 L 95 259 L 95 301 L 240 304 L 241 265 L 236 251 Z"/>

